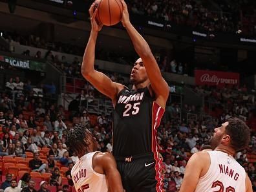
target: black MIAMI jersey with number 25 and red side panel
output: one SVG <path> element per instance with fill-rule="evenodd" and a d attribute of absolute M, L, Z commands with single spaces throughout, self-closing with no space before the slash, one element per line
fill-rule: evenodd
<path fill-rule="evenodd" d="M 133 156 L 156 152 L 156 129 L 164 109 L 155 103 L 149 89 L 123 89 L 118 94 L 112 125 L 113 155 Z"/>

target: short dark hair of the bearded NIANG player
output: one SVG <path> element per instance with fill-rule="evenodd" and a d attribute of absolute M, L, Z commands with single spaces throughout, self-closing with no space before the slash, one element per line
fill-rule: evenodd
<path fill-rule="evenodd" d="M 250 142 L 250 128 L 239 118 L 229 118 L 226 133 L 230 136 L 230 146 L 235 151 L 248 147 Z"/>

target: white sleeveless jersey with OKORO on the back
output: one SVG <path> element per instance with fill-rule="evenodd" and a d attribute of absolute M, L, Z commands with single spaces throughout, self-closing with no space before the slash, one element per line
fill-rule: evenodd
<path fill-rule="evenodd" d="M 92 157 L 87 153 L 76 162 L 71 170 L 72 180 L 77 192 L 107 192 L 108 184 L 105 175 L 96 173 L 92 168 Z"/>

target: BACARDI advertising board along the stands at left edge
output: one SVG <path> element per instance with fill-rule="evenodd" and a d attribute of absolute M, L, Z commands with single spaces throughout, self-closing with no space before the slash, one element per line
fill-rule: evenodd
<path fill-rule="evenodd" d="M 7 56 L 0 56 L 0 61 L 9 63 L 12 67 L 19 67 L 21 69 L 37 70 L 45 72 L 45 63 L 39 61 L 32 61 L 20 58 L 12 58 Z"/>

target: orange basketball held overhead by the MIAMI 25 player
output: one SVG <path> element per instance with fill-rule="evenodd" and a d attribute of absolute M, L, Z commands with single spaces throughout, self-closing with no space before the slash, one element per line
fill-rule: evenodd
<path fill-rule="evenodd" d="M 116 25 L 122 18 L 123 5 L 119 0 L 96 0 L 96 19 L 106 26 Z"/>

